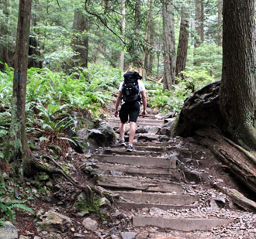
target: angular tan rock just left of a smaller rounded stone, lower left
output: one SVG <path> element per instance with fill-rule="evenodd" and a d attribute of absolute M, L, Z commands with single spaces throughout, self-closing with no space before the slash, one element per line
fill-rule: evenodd
<path fill-rule="evenodd" d="M 40 228 L 45 230 L 57 229 L 57 230 L 67 230 L 70 227 L 72 221 L 69 217 L 62 215 L 61 213 L 57 213 L 54 210 L 50 210 L 44 214 L 44 219 L 39 223 Z"/>

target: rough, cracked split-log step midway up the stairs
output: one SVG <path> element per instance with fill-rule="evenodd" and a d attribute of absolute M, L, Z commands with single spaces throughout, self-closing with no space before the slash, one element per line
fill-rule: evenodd
<path fill-rule="evenodd" d="M 179 183 L 157 179 L 140 179 L 137 177 L 123 176 L 99 176 L 99 186 L 111 189 L 132 189 L 146 192 L 182 193 L 183 189 Z"/>

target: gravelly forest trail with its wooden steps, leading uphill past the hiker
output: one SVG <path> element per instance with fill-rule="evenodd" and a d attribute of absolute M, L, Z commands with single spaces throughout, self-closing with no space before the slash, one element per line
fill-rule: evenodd
<path fill-rule="evenodd" d="M 137 133 L 134 152 L 116 145 L 92 155 L 100 170 L 98 186 L 111 190 L 116 207 L 129 215 L 127 238 L 239 238 L 229 237 L 228 228 L 240 227 L 236 222 L 243 213 L 224 210 L 223 193 L 202 189 L 185 176 L 177 155 L 186 149 L 175 138 L 159 141 L 162 135 L 156 131 L 163 123 L 153 114 L 139 118 L 142 133 Z M 109 124 L 118 133 L 119 118 L 110 118 Z"/>

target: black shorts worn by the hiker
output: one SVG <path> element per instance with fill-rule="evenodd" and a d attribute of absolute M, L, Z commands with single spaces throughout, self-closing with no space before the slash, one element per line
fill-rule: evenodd
<path fill-rule="evenodd" d="M 136 101 L 135 103 L 124 103 L 121 106 L 119 111 L 119 118 L 123 123 L 128 121 L 137 122 L 137 118 L 140 114 L 140 102 Z"/>

